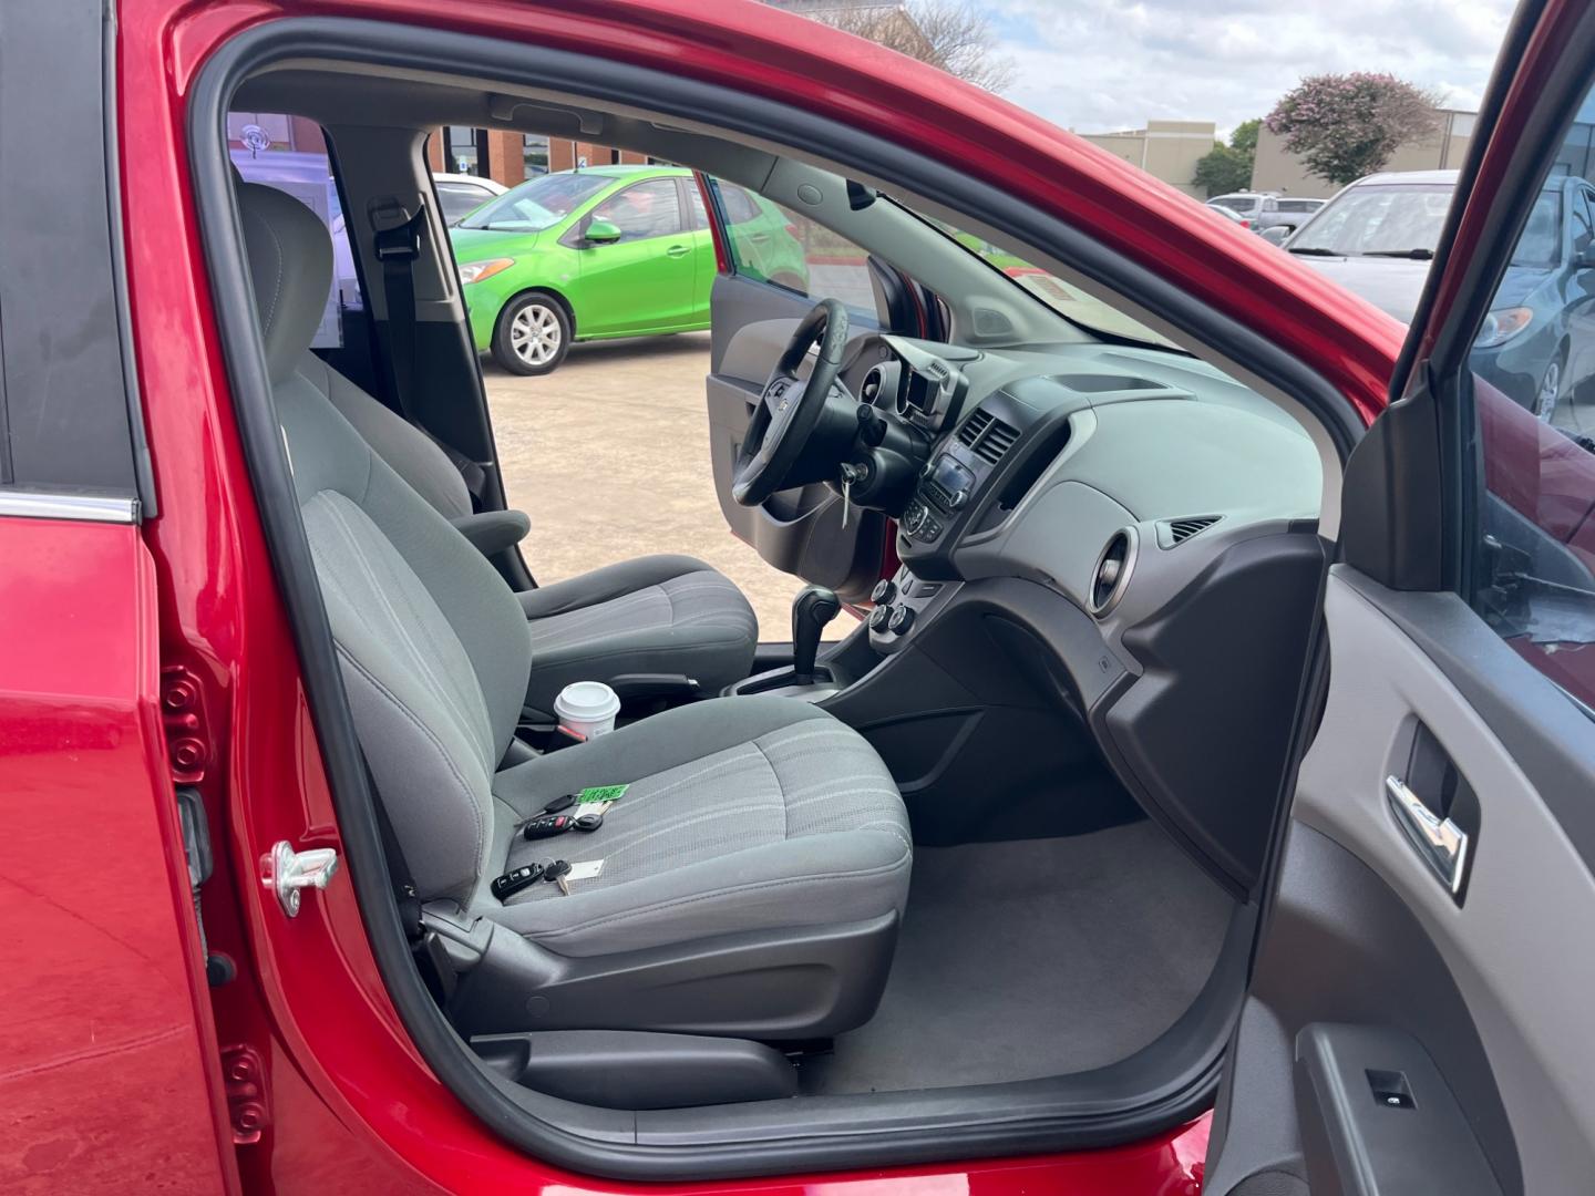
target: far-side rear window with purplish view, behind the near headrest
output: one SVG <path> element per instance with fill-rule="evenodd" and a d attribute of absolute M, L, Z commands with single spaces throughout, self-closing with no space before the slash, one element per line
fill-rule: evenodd
<path fill-rule="evenodd" d="M 341 348 L 343 313 L 362 309 L 365 297 L 360 293 L 360 277 L 349 249 L 349 230 L 343 223 L 325 134 L 316 121 L 305 116 L 230 112 L 226 150 L 246 182 L 287 191 L 319 215 L 332 233 L 332 293 L 327 295 L 327 308 L 311 348 Z"/>

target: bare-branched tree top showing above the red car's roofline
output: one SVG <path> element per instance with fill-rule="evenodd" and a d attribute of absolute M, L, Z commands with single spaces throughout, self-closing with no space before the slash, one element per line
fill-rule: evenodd
<path fill-rule="evenodd" d="M 774 3 L 928 62 L 987 91 L 1002 91 L 1013 81 L 1013 61 L 997 53 L 990 19 L 967 0 Z"/>

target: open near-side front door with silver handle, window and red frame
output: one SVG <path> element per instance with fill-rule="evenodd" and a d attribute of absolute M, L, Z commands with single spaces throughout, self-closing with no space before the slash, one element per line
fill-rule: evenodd
<path fill-rule="evenodd" d="M 1595 1188 L 1595 8 L 1501 64 L 1346 469 L 1207 1193 Z"/>

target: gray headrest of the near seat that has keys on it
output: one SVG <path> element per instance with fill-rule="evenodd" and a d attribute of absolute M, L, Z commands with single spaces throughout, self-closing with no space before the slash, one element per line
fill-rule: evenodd
<path fill-rule="evenodd" d="M 278 383 L 298 367 L 327 309 L 332 236 L 309 207 L 274 187 L 239 183 L 238 212 L 266 368 Z"/>

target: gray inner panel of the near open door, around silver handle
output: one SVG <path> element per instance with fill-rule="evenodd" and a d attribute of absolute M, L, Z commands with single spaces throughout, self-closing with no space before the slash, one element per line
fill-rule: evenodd
<path fill-rule="evenodd" d="M 1314 1170 L 1319 1115 L 1295 1081 L 1290 1100 L 1271 1104 L 1276 1124 L 1254 1113 L 1260 1091 L 1282 1091 L 1302 1033 L 1335 1021 L 1423 1046 L 1501 1191 L 1577 1191 L 1595 1174 L 1595 1108 L 1582 1096 L 1595 1067 L 1584 1032 L 1595 944 L 1520 915 L 1555 914 L 1569 928 L 1595 917 L 1590 729 L 1455 595 L 1397 593 L 1335 566 L 1325 624 L 1329 697 L 1227 1076 L 1246 1113 L 1230 1113 L 1228 1135 L 1215 1131 L 1228 1143 L 1209 1188 L 1244 1191 L 1231 1185 L 1303 1153 Z M 1388 808 L 1384 778 L 1402 775 L 1420 726 L 1480 807 L 1461 906 Z"/>

